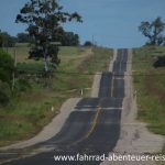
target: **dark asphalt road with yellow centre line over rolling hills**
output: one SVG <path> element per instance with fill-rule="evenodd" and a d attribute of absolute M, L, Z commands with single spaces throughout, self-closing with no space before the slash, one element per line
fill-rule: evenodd
<path fill-rule="evenodd" d="M 113 72 L 102 73 L 99 97 L 81 99 L 59 133 L 35 147 L 53 151 L 21 158 L 4 165 L 98 165 L 101 161 L 55 161 L 54 156 L 106 155 L 113 150 L 120 135 L 123 74 L 127 70 L 128 50 L 118 50 Z"/>

